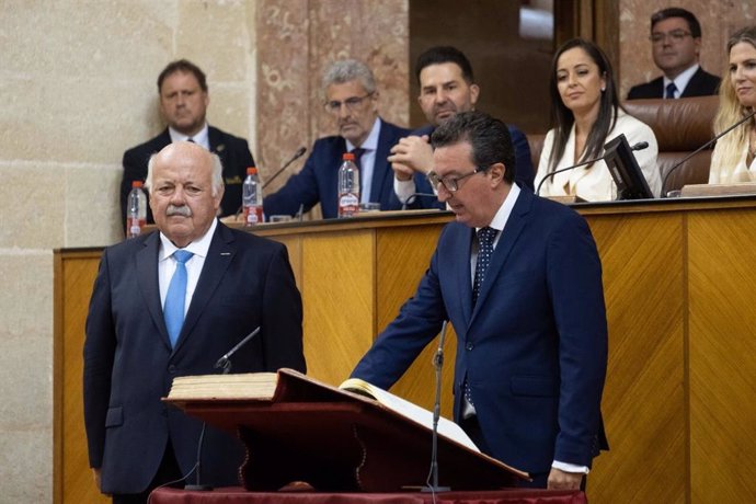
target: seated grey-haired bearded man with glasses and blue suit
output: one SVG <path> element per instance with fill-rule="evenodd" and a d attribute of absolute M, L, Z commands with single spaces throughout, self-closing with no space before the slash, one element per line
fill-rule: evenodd
<path fill-rule="evenodd" d="M 393 192 L 389 150 L 408 130 L 378 116 L 376 81 L 367 66 L 347 59 L 333 64 L 323 76 L 325 111 L 339 136 L 314 142 L 302 170 L 263 201 L 265 215 L 295 215 L 320 203 L 324 219 L 339 215 L 339 167 L 344 152 L 354 152 L 359 168 L 360 203 L 378 203 L 381 210 L 402 207 Z"/>

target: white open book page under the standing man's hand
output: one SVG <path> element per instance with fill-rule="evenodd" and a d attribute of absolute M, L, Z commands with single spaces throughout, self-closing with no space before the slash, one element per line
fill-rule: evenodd
<path fill-rule="evenodd" d="M 350 378 L 340 385 L 339 388 L 343 390 L 351 390 L 355 393 L 365 394 L 365 392 L 368 392 L 373 398 L 375 398 L 376 401 L 383 404 L 386 408 L 396 411 L 402 416 L 405 416 L 431 431 L 433 429 L 433 412 L 421 408 L 417 404 L 408 401 L 406 399 L 402 399 L 399 396 L 394 396 L 389 391 L 376 387 L 375 385 L 370 385 L 365 380 L 359 378 Z M 462 427 L 443 416 L 438 419 L 438 434 L 480 453 L 480 449 L 478 449 L 476 444 L 472 443 L 472 439 L 470 439 L 465 431 L 462 431 Z"/>

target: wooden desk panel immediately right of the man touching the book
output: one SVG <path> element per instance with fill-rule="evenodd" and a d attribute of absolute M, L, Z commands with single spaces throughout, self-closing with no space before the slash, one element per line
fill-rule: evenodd
<path fill-rule="evenodd" d="M 603 410 L 610 446 L 595 461 L 591 502 L 685 502 L 683 219 L 588 218 L 604 267 L 609 364 Z"/>

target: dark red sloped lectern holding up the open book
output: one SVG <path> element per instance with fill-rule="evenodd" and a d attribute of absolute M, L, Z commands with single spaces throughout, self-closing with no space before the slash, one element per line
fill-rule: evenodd
<path fill-rule="evenodd" d="M 247 490 L 306 482 L 319 491 L 398 492 L 426 484 L 432 432 L 379 402 L 290 369 L 272 399 L 168 402 L 238 433 L 247 448 L 239 469 Z M 527 474 L 450 438 L 438 437 L 439 482 L 454 490 L 515 486 Z"/>

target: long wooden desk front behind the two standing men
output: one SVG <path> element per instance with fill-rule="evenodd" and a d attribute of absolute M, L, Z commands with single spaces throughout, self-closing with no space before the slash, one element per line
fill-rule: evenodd
<path fill-rule="evenodd" d="M 575 208 L 602 255 L 609 323 L 603 411 L 611 450 L 595 461 L 591 501 L 756 501 L 756 198 Z M 413 294 L 450 219 L 378 215 L 254 230 L 288 247 L 309 374 L 334 385 L 346 377 Z M 100 253 L 56 251 L 56 502 L 64 493 L 66 502 L 94 502 L 81 348 Z M 426 348 L 392 391 L 429 406 L 432 354 Z M 451 375 L 446 366 L 446 415 Z"/>

